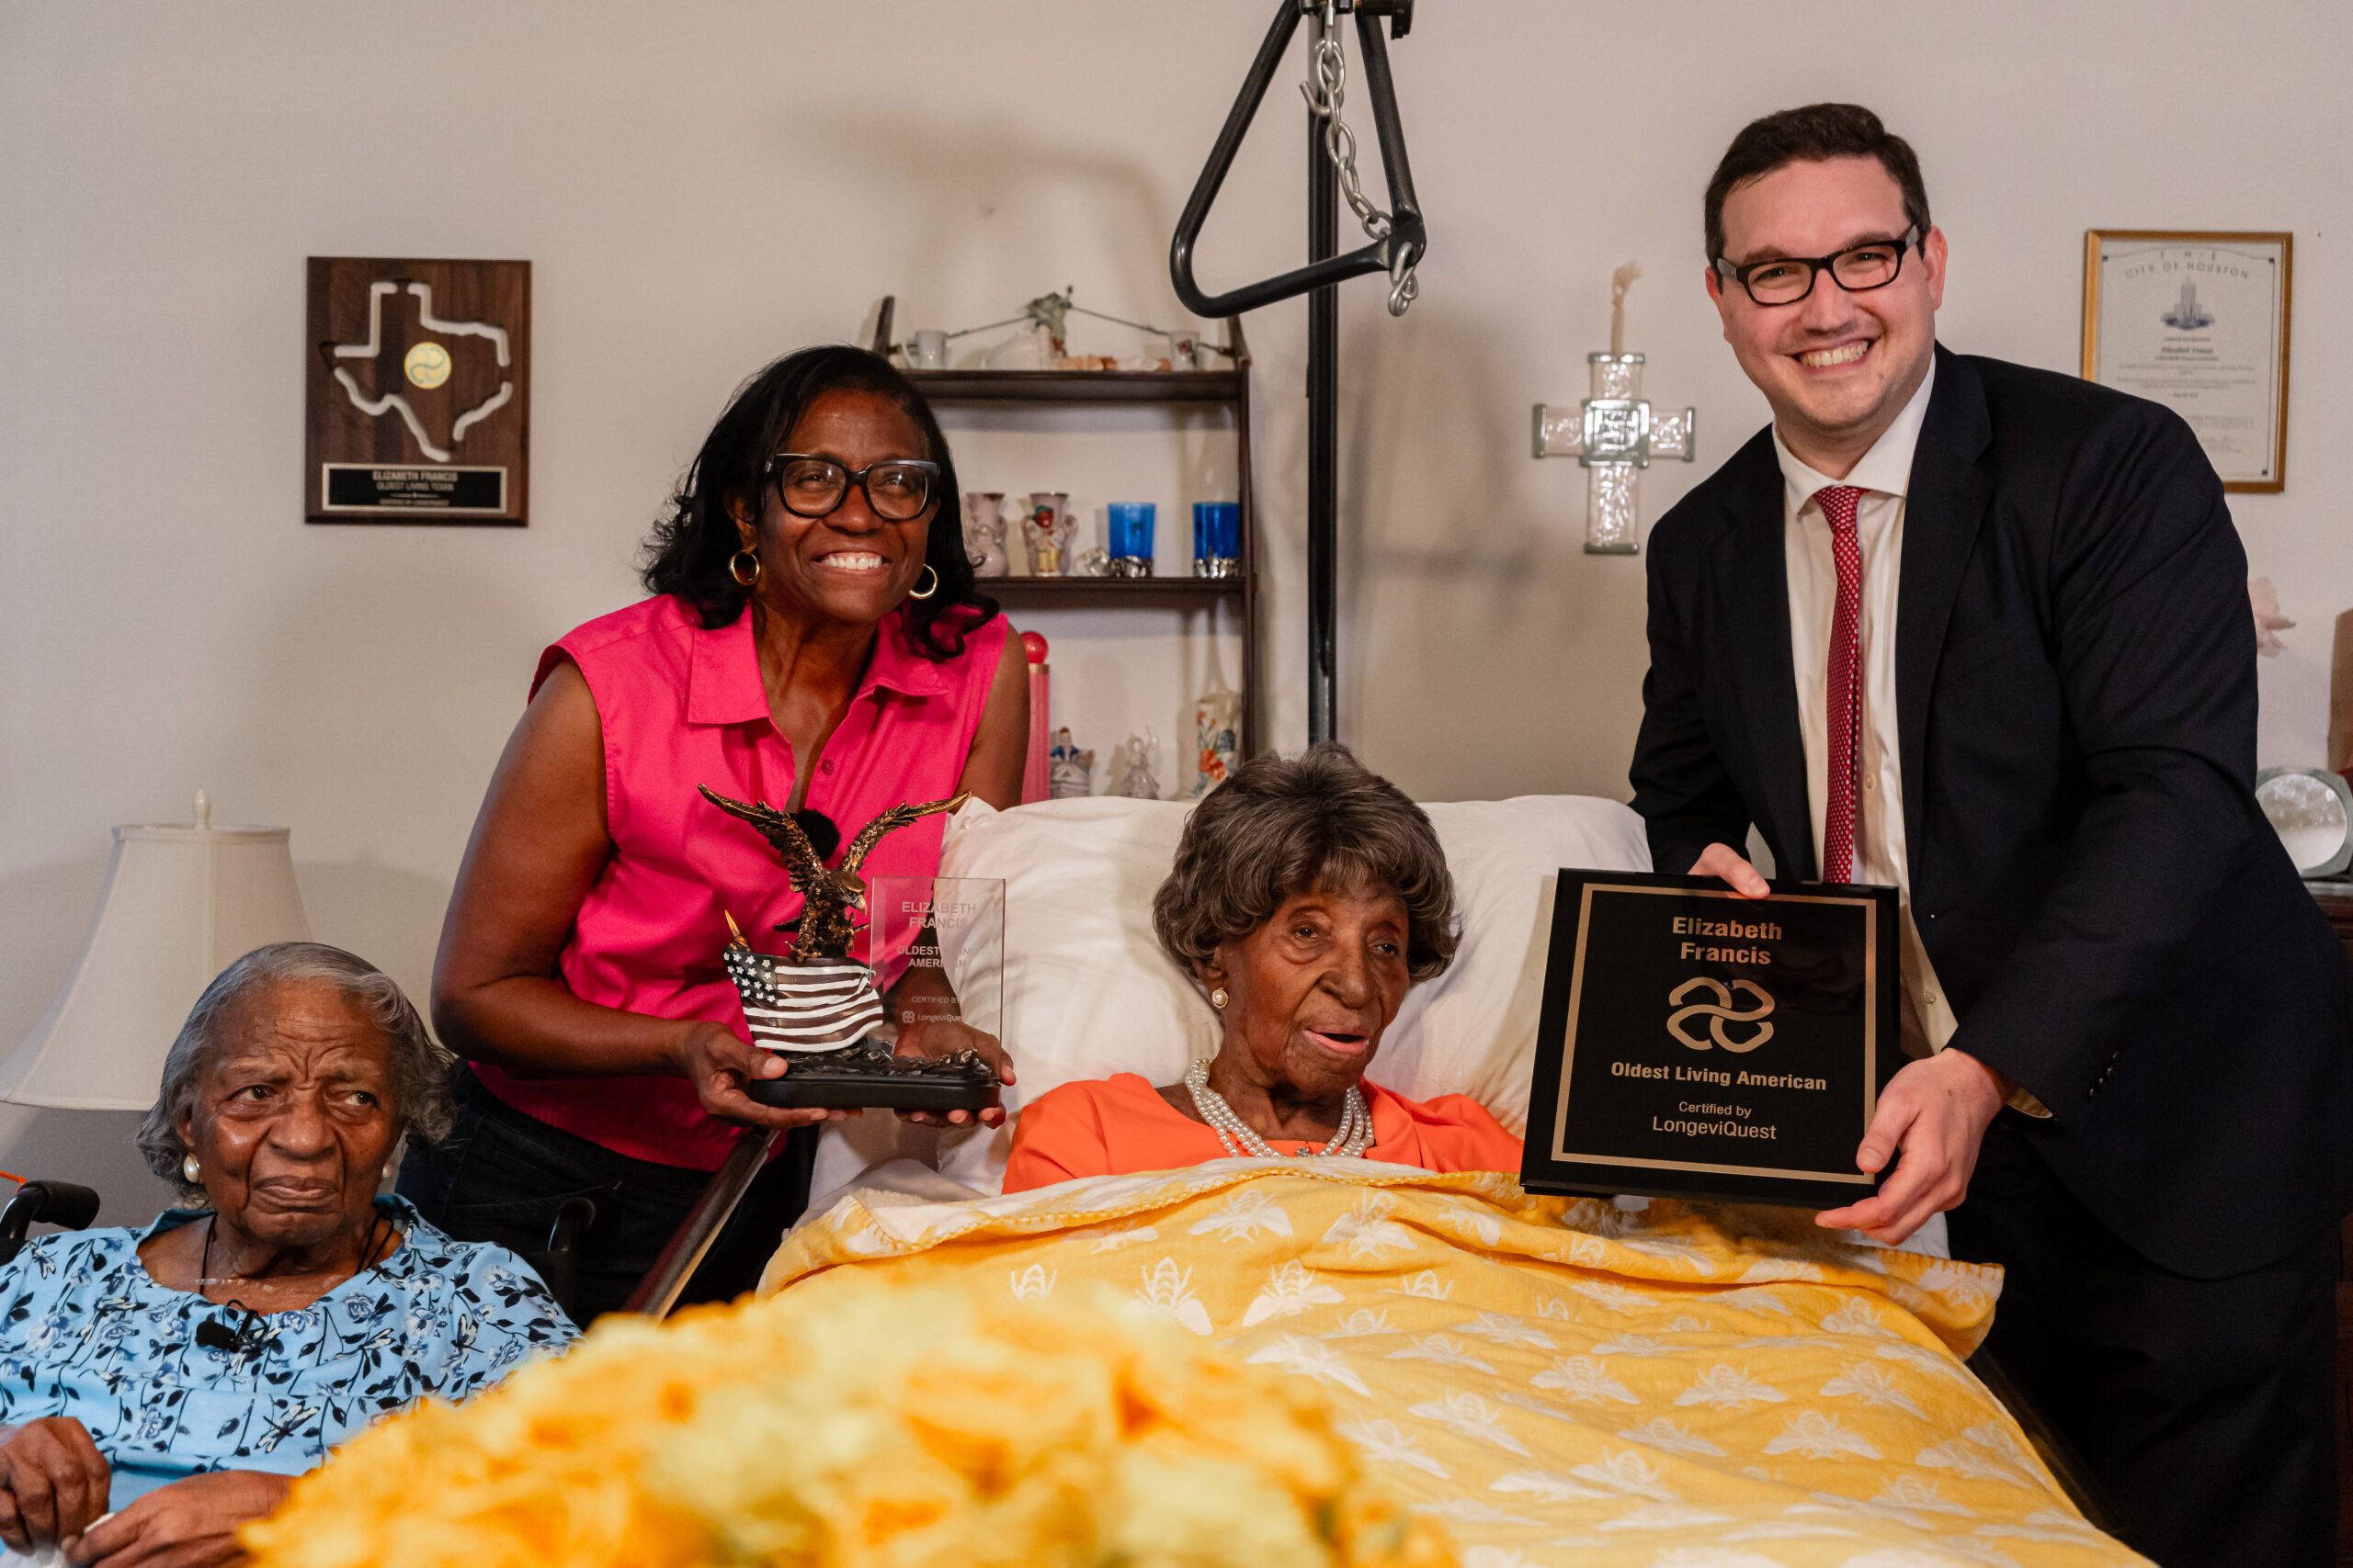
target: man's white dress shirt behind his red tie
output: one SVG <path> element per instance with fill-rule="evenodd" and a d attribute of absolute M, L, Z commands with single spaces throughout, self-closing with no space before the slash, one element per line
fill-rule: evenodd
<path fill-rule="evenodd" d="M 1831 780 L 1831 616 L 1838 611 L 1838 562 L 1831 524 L 1814 494 L 1826 484 L 1864 491 L 1854 503 L 1854 534 L 1864 552 L 1861 592 L 1861 715 L 1854 748 L 1854 865 L 1824 865 L 1824 882 L 1875 882 L 1904 896 L 1899 914 L 1904 950 L 1904 1048 L 1911 1056 L 1941 1051 L 1958 1018 L 1937 985 L 1911 912 L 1911 865 L 1904 856 L 1904 762 L 1897 750 L 1897 588 L 1904 581 L 1904 491 L 1911 487 L 1913 449 L 1937 386 L 1929 362 L 1920 390 L 1871 451 L 1833 480 L 1798 461 L 1772 435 L 1781 458 L 1781 541 L 1788 562 L 1788 651 L 1798 677 L 1798 729 L 1805 736 L 1805 797 L 1814 820 L 1814 863 L 1821 865 L 1821 818 Z"/>

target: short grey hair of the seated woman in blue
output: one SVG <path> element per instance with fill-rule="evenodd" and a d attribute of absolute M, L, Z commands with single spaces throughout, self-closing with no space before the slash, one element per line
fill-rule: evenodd
<path fill-rule="evenodd" d="M 456 1117 L 456 1105 L 449 1098 L 449 1070 L 456 1058 L 426 1032 L 426 1020 L 416 1016 L 416 1006 L 400 985 L 367 959 L 327 943 L 271 943 L 254 947 L 214 976 L 205 994 L 188 1009 L 188 1023 L 179 1027 L 179 1039 L 162 1058 L 162 1086 L 155 1091 L 155 1105 L 139 1124 L 139 1152 L 146 1154 L 155 1175 L 172 1182 L 184 1204 L 205 1201 L 205 1190 L 184 1175 L 188 1145 L 179 1135 L 179 1114 L 195 1098 L 195 1086 L 226 1044 L 221 1023 L 256 985 L 287 980 L 322 980 L 358 1004 L 384 1030 L 393 1051 L 393 1119 L 409 1138 L 424 1143 L 440 1143 L 449 1135 L 449 1124 Z"/>

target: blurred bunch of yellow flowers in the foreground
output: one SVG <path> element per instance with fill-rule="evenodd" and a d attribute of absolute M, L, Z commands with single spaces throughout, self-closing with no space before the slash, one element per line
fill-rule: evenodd
<path fill-rule="evenodd" d="M 266 1568 L 1445 1568 L 1320 1399 L 1108 1295 L 828 1281 L 386 1422 L 245 1542 Z"/>

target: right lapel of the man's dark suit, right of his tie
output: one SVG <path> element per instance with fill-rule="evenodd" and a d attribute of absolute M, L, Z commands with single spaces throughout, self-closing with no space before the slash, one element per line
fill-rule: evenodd
<path fill-rule="evenodd" d="M 1986 522 L 1993 477 L 1979 458 L 1993 440 L 1986 386 L 1977 369 L 1937 348 L 1937 390 L 1920 423 L 1904 498 L 1904 576 L 1897 585 L 1897 743 L 1904 766 L 1904 846 L 1918 886 L 1927 799 L 1927 705 L 1937 658 L 1953 621 L 1960 576 Z M 1784 588 L 1786 595 L 1786 588 Z"/>

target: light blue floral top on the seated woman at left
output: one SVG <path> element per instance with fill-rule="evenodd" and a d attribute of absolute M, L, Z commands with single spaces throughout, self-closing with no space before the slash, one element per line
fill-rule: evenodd
<path fill-rule="evenodd" d="M 261 1316 L 235 1349 L 195 1342 L 207 1319 L 240 1326 L 235 1312 L 139 1262 L 141 1241 L 205 1211 L 40 1237 L 0 1267 L 0 1422 L 82 1422 L 120 1509 L 205 1469 L 301 1474 L 379 1415 L 464 1399 L 579 1338 L 515 1253 L 454 1241 L 407 1199 L 376 1208 L 400 1246 L 308 1307 Z"/>

